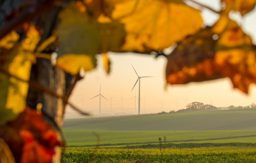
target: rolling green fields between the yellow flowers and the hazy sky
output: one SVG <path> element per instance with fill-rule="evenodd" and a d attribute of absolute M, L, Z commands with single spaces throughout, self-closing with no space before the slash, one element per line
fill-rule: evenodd
<path fill-rule="evenodd" d="M 256 109 L 65 120 L 68 146 L 256 142 Z"/>

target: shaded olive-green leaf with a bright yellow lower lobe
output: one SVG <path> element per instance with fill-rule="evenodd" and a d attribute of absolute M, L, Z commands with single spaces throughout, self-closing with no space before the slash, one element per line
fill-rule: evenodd
<path fill-rule="evenodd" d="M 95 54 L 115 51 L 124 42 L 123 24 L 99 23 L 97 18 L 81 12 L 75 3 L 64 8 L 59 18 L 56 65 L 71 74 L 77 74 L 81 68 L 92 70 L 96 65 Z"/>

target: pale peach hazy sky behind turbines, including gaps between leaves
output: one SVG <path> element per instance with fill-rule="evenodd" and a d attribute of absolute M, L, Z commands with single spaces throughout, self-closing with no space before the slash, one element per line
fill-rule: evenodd
<path fill-rule="evenodd" d="M 218 9 L 219 1 L 198 1 Z M 211 4 L 209 4 L 211 3 Z M 207 9 L 202 11 L 202 17 L 206 25 L 212 25 L 218 19 L 218 15 Z M 252 37 L 256 44 L 256 10 L 254 9 L 246 16 L 241 18 L 237 13 L 230 14 L 230 18 L 237 21 L 242 29 Z M 111 102 L 103 101 L 101 115 L 116 114 L 122 112 L 121 94 L 123 94 L 123 112 L 134 114 L 134 99 L 128 100 L 135 96 L 138 97 L 138 83 L 132 90 L 137 75 L 154 76 L 141 79 L 141 99 L 146 96 L 145 110 L 144 101 L 141 101 L 141 114 L 161 112 L 161 103 L 163 102 L 163 111 L 177 110 L 176 100 L 178 98 L 178 109 L 185 108 L 185 99 L 187 103 L 202 102 L 217 107 L 246 106 L 252 102 L 256 103 L 256 87 L 250 85 L 249 94 L 244 94 L 238 89 L 233 89 L 230 79 L 218 79 L 208 82 L 189 83 L 186 85 L 166 85 L 165 68 L 167 59 L 160 56 L 157 59 L 150 55 L 141 55 L 135 53 L 108 53 L 111 60 L 111 72 L 106 74 L 102 66 L 101 56 L 97 55 L 98 65 L 90 72 L 84 75 L 84 79 L 79 81 L 74 88 L 69 99 L 78 108 L 83 107 L 83 111 L 91 114 L 99 114 L 99 97 L 91 99 L 99 94 L 101 85 L 101 94 Z M 132 64 L 132 65 L 131 65 Z M 132 91 L 131 91 L 132 90 Z M 110 94 L 110 95 L 109 95 Z M 81 99 L 84 98 L 84 104 Z M 106 108 L 105 108 L 106 106 Z M 72 115 L 71 109 L 67 107 L 67 113 Z M 138 114 L 138 101 L 136 101 L 136 114 Z"/>

